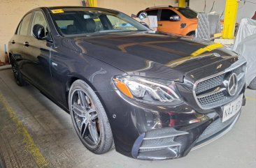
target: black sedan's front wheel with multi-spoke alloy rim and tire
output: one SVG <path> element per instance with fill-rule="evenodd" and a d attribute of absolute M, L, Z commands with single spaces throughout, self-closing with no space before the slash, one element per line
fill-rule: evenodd
<path fill-rule="evenodd" d="M 99 98 L 83 80 L 76 80 L 69 91 L 69 112 L 80 141 L 92 153 L 111 150 L 113 135 Z"/>

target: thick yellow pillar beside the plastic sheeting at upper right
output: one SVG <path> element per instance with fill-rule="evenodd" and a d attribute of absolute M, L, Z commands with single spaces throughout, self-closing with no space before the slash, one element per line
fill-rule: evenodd
<path fill-rule="evenodd" d="M 236 15 L 240 0 L 226 0 L 224 28 L 222 38 L 234 38 L 234 28 L 236 25 Z"/>

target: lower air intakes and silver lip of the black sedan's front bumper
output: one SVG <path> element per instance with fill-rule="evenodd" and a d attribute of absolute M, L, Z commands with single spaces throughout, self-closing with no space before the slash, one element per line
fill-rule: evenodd
<path fill-rule="evenodd" d="M 229 132 L 239 119 L 240 114 L 241 110 L 225 123 L 222 123 L 218 115 L 213 116 L 212 113 L 211 116 L 213 117 L 209 118 L 208 121 L 190 125 L 180 130 L 174 128 L 151 130 L 138 137 L 134 143 L 132 155 L 141 160 L 166 160 L 184 157 L 191 150 L 209 144 Z"/>

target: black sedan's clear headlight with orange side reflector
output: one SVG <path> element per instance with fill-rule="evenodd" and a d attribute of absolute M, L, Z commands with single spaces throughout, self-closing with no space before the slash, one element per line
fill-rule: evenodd
<path fill-rule="evenodd" d="M 113 77 L 113 82 L 125 96 L 140 102 L 154 105 L 180 103 L 180 96 L 172 81 L 120 75 Z"/>

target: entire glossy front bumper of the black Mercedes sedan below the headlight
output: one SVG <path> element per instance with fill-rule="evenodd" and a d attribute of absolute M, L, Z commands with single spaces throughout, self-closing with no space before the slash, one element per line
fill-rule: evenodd
<path fill-rule="evenodd" d="M 241 90 L 243 94 L 245 87 Z M 224 135 L 236 115 L 222 123 L 221 107 L 198 112 L 185 102 L 176 107 L 145 105 L 118 91 L 102 92 L 115 150 L 141 160 L 182 158 Z M 115 102 L 115 103 L 113 103 Z M 243 96 L 243 105 L 246 98 Z"/>

